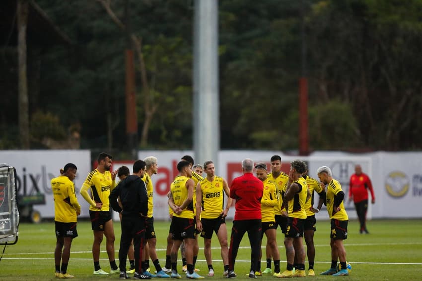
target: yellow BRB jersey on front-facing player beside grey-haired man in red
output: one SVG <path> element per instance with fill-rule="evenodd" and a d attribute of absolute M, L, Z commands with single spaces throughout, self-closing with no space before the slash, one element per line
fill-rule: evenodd
<path fill-rule="evenodd" d="M 224 179 L 215 176 L 212 182 L 203 179 L 199 182 L 202 191 L 201 218 L 217 218 L 224 209 Z"/>

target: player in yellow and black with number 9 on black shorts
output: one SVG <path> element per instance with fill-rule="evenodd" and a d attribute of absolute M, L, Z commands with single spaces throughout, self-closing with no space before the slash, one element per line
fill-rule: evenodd
<path fill-rule="evenodd" d="M 305 203 L 311 197 L 308 185 L 302 174 L 306 171 L 305 162 L 294 160 L 290 163 L 288 184 L 284 199 L 287 201 L 288 218 L 284 238 L 286 247 L 287 268 L 278 277 L 304 277 L 305 248 L 303 246 L 303 231 L 306 221 Z M 297 256 L 298 270 L 293 274 L 294 258 Z"/>

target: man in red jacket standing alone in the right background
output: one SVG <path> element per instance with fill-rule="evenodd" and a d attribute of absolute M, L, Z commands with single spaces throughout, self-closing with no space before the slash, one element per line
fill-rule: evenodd
<path fill-rule="evenodd" d="M 368 189 L 371 192 L 372 204 L 375 203 L 374 190 L 367 174 L 362 173 L 362 167 L 356 165 L 355 173 L 350 177 L 349 200 L 354 201 L 360 222 L 360 234 L 369 234 L 366 229 L 366 212 L 368 211 Z"/>

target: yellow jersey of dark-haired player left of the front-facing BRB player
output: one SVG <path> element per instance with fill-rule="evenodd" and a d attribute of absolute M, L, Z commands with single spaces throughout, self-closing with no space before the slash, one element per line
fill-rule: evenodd
<path fill-rule="evenodd" d="M 181 206 L 183 202 L 188 198 L 188 188 L 186 187 L 186 182 L 191 178 L 185 176 L 178 176 L 170 185 L 171 194 L 173 195 L 174 204 Z M 194 204 L 193 200 L 182 210 L 180 214 L 174 213 L 174 217 L 182 218 L 194 218 Z"/>

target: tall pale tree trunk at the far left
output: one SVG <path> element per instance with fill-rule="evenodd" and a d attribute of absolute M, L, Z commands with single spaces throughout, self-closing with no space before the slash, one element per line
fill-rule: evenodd
<path fill-rule="evenodd" d="M 26 71 L 26 26 L 28 22 L 28 1 L 17 1 L 18 32 L 18 108 L 19 136 L 22 149 L 29 149 L 28 81 Z"/>

